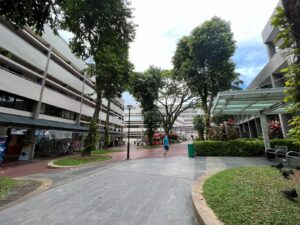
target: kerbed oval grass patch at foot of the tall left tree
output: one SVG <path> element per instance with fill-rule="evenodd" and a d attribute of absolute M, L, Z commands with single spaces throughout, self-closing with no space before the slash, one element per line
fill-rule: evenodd
<path fill-rule="evenodd" d="M 99 156 L 99 155 L 92 155 L 92 156 L 69 156 L 62 159 L 57 159 L 53 163 L 58 166 L 78 166 L 84 165 L 94 162 L 101 162 L 110 160 L 111 156 Z"/>

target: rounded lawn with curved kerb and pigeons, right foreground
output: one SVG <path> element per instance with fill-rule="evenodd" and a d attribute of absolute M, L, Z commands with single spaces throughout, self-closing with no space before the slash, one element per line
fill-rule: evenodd
<path fill-rule="evenodd" d="M 263 166 L 219 172 L 203 187 L 208 205 L 227 225 L 297 224 L 300 201 L 292 202 L 281 193 L 290 188 L 299 193 L 299 181 L 285 179 L 279 170 Z"/>

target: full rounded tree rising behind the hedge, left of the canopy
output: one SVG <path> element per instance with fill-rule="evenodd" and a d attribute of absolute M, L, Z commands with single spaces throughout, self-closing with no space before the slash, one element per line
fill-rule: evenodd
<path fill-rule="evenodd" d="M 238 77 L 231 60 L 235 47 L 230 24 L 218 17 L 196 27 L 177 45 L 173 57 L 175 74 L 200 96 L 207 128 L 213 98 L 219 91 L 231 89 Z"/>

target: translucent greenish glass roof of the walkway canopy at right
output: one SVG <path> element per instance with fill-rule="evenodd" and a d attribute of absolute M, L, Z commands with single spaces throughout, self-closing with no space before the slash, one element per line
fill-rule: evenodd
<path fill-rule="evenodd" d="M 259 115 L 287 113 L 284 88 L 219 92 L 212 114 Z"/>

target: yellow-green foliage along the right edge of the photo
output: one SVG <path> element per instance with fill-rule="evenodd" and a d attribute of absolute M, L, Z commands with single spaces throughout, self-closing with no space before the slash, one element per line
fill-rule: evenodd
<path fill-rule="evenodd" d="M 275 42 L 285 49 L 286 57 L 292 58 L 291 64 L 282 70 L 286 76 L 287 96 L 291 102 L 289 112 L 293 114 L 290 120 L 290 135 L 300 146 L 300 0 L 282 0 L 283 8 L 277 8 L 272 24 L 279 28 Z"/>

